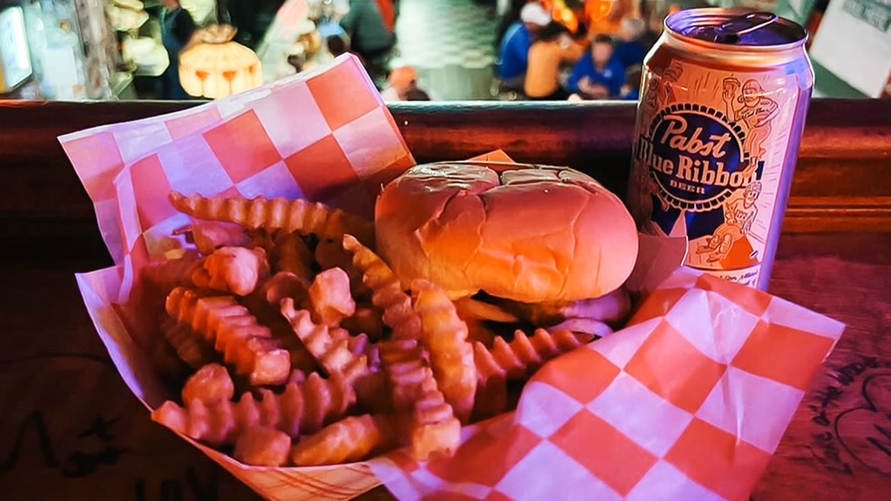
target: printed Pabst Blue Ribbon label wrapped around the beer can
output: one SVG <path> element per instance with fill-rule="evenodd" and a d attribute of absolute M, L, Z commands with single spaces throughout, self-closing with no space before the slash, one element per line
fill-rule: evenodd
<path fill-rule="evenodd" d="M 686 236 L 686 265 L 754 286 L 799 97 L 795 72 L 671 60 L 644 75 L 629 204 L 642 231 Z M 795 152 L 792 152 L 795 154 Z"/>

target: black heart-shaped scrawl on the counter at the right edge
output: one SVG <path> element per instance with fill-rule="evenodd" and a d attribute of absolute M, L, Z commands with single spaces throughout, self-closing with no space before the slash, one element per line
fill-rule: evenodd
<path fill-rule="evenodd" d="M 836 474 L 853 476 L 858 465 L 891 474 L 891 361 L 862 357 L 828 375 L 806 404 L 811 455 Z"/>

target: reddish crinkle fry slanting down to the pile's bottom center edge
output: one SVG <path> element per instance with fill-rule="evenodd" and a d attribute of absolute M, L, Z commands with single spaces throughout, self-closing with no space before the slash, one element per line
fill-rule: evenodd
<path fill-rule="evenodd" d="M 393 407 L 407 431 L 412 456 L 419 461 L 433 454 L 451 454 L 461 439 L 461 422 L 425 360 L 426 353 L 416 340 L 380 343 L 380 362 L 388 376 Z"/>

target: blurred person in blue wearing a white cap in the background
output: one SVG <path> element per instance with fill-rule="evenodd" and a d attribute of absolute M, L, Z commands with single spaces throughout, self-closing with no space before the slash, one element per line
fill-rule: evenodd
<path fill-rule="evenodd" d="M 505 33 L 498 53 L 497 74 L 503 90 L 523 88 L 532 40 L 550 22 L 551 14 L 541 4 L 523 6 L 519 21 L 511 24 Z"/>

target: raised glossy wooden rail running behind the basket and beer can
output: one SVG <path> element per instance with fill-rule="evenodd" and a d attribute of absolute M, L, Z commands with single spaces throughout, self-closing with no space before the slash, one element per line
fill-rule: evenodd
<path fill-rule="evenodd" d="M 56 136 L 196 103 L 0 101 L 0 221 L 8 234 L 36 241 L 68 237 L 73 245 L 97 242 L 74 238 L 98 236 L 98 230 Z M 625 194 L 634 103 L 415 102 L 390 108 L 419 162 L 503 148 L 518 161 L 578 168 Z M 888 100 L 813 100 L 784 231 L 891 231 L 889 116 Z M 101 246 L 77 251 L 103 252 Z"/>

